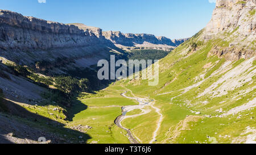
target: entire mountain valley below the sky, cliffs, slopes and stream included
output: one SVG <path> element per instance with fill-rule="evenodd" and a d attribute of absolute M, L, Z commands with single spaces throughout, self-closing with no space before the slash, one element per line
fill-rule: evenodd
<path fill-rule="evenodd" d="M 256 143 L 255 6 L 217 0 L 176 40 L 0 10 L 0 143 Z M 159 60 L 158 85 L 100 81 L 110 55 Z"/>

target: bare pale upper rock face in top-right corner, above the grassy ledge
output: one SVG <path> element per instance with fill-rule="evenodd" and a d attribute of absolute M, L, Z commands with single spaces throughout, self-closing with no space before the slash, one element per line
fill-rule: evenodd
<path fill-rule="evenodd" d="M 205 33 L 209 36 L 216 35 L 218 32 L 233 31 L 239 26 L 241 35 L 255 34 L 255 12 L 253 14 L 255 2 L 255 0 L 217 0 L 216 9 L 214 9 L 212 19 L 205 28 Z"/>

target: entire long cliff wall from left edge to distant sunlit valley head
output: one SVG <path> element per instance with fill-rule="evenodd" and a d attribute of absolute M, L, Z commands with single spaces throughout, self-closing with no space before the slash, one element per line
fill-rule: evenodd
<path fill-rule="evenodd" d="M 0 10 L 0 59 L 20 65 L 35 66 L 36 62 L 44 61 L 52 68 L 68 59 L 72 67 L 89 67 L 109 58 L 110 51 L 170 50 L 181 42 L 147 34 L 102 32 L 84 24 L 63 24 Z"/>

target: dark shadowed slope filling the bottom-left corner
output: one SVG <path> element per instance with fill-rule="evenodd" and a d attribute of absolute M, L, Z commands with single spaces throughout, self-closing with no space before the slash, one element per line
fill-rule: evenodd
<path fill-rule="evenodd" d="M 51 143 L 86 143 L 91 137 L 65 124 L 27 111 L 22 106 L 2 99 L 0 101 L 0 143 L 35 143 L 46 137 Z M 11 135 L 10 135 L 11 134 Z"/>

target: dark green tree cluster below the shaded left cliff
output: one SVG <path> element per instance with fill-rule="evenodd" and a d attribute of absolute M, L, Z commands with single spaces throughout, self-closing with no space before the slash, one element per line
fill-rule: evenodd
<path fill-rule="evenodd" d="M 100 80 L 97 78 L 96 70 L 91 69 L 75 69 L 69 70 L 66 75 L 58 75 L 53 78 L 46 78 L 38 76 L 38 74 L 29 72 L 28 69 L 22 65 L 7 64 L 10 70 L 16 76 L 23 76 L 32 79 L 35 82 L 42 82 L 45 85 L 53 85 L 57 89 L 67 94 L 76 94 L 81 91 L 88 92 L 100 86 Z"/>

